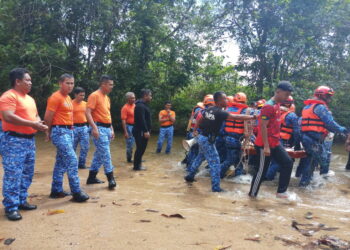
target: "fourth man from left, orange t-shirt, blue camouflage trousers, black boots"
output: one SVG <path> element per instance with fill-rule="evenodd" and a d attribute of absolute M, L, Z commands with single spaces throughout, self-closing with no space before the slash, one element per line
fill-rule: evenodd
<path fill-rule="evenodd" d="M 111 102 L 108 94 L 113 89 L 113 79 L 103 75 L 100 87 L 88 98 L 86 118 L 92 128 L 92 136 L 96 151 L 92 159 L 89 177 L 86 184 L 98 184 L 103 181 L 96 178 L 98 170 L 103 165 L 108 180 L 108 188 L 114 189 L 117 185 L 113 176 L 110 142 L 114 139 L 114 130 L 111 117 Z"/>

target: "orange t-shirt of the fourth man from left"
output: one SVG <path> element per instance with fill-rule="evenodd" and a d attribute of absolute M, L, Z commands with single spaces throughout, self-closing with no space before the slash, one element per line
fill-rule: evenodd
<path fill-rule="evenodd" d="M 87 107 L 91 109 L 94 122 L 112 123 L 111 102 L 100 90 L 89 95 Z"/>

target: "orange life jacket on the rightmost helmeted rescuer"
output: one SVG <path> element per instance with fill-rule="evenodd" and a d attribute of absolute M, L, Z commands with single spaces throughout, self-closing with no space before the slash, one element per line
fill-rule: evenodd
<path fill-rule="evenodd" d="M 324 101 L 313 99 L 304 101 L 304 104 L 307 105 L 306 107 L 308 108 L 304 107 L 302 112 L 301 131 L 327 134 L 328 131 L 324 122 L 314 113 L 314 109 L 317 105 L 322 104 L 327 107 L 327 104 Z"/>

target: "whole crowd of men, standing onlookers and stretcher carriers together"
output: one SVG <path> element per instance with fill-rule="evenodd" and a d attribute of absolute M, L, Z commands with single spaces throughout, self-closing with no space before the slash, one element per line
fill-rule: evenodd
<path fill-rule="evenodd" d="M 42 131 L 46 140 L 52 141 L 57 149 L 53 169 L 50 198 L 72 196 L 73 201 L 84 202 L 89 196 L 81 189 L 78 169 L 86 169 L 90 135 L 95 152 L 89 169 L 87 184 L 100 184 L 97 178 L 100 167 L 108 181 L 108 188 L 117 185 L 111 159 L 110 142 L 114 139 L 111 104 L 108 94 L 114 86 L 113 79 L 103 75 L 96 91 L 85 99 L 85 90 L 74 88 L 74 77 L 63 74 L 59 89 L 47 101 L 44 120 L 39 117 L 35 100 L 28 95 L 32 88 L 29 72 L 15 68 L 10 74 L 11 88 L 0 98 L 0 154 L 3 162 L 3 205 L 9 220 L 20 220 L 19 210 L 34 210 L 29 204 L 28 188 L 31 185 L 35 165 L 35 134 Z M 74 99 L 70 97 L 73 91 Z M 329 172 L 332 133 L 347 134 L 346 128 L 338 125 L 328 104 L 334 91 L 320 86 L 314 97 L 305 101 L 302 116 L 295 114 L 291 97 L 293 88 L 289 82 L 278 84 L 275 95 L 269 100 L 259 100 L 248 106 L 247 96 L 239 92 L 226 96 L 224 92 L 206 95 L 192 111 L 188 125 L 187 139 L 195 143 L 186 158 L 187 182 L 194 182 L 201 163 L 206 160 L 212 178 L 212 191 L 223 191 L 220 179 L 235 167 L 233 176 L 246 174 L 243 162 L 248 160 L 255 166 L 249 195 L 256 197 L 262 181 L 274 179 L 279 172 L 277 197 L 288 198 L 287 188 L 291 177 L 293 160 L 285 148 L 306 152 L 296 171 L 300 186 L 310 184 L 313 172 L 319 166 L 320 174 Z M 146 150 L 151 131 L 151 115 L 148 103 L 152 100 L 150 90 L 143 89 L 140 99 L 126 93 L 126 104 L 121 110 L 122 126 L 126 139 L 126 160 L 133 162 L 133 170 L 145 170 L 142 156 Z M 175 112 L 166 102 L 159 112 L 160 133 L 156 153 L 162 151 L 167 138 L 165 153 L 169 154 L 175 123 Z M 330 138 L 326 139 L 325 138 Z M 134 160 L 133 145 L 136 142 Z M 246 159 L 245 149 L 255 145 L 255 155 Z M 80 145 L 80 155 L 76 149 Z M 301 146 L 302 145 L 302 146 Z M 63 190 L 63 176 L 67 173 L 70 192 Z"/>

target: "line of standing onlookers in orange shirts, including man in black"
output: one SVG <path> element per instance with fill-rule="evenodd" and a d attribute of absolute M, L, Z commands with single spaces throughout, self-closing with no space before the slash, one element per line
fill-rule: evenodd
<path fill-rule="evenodd" d="M 86 184 L 100 184 L 97 178 L 101 166 L 107 177 L 108 188 L 117 185 L 113 170 L 110 142 L 114 139 L 111 104 L 108 94 L 114 86 L 108 75 L 100 78 L 99 87 L 91 93 L 85 102 L 85 90 L 74 88 L 74 77 L 63 74 L 59 79 L 59 89 L 47 100 L 44 120 L 39 117 L 35 100 L 28 95 L 32 88 L 29 72 L 24 68 L 15 68 L 9 73 L 11 88 L 0 98 L 0 154 L 3 162 L 3 205 L 5 216 L 9 220 L 20 220 L 19 210 L 34 210 L 36 205 L 29 204 L 28 188 L 34 175 L 35 135 L 37 131 L 46 134 L 46 141 L 52 141 L 57 149 L 53 169 L 50 198 L 72 196 L 76 202 L 84 202 L 89 196 L 81 189 L 78 169 L 86 169 L 86 157 L 89 151 L 90 135 L 95 152 L 89 169 Z M 74 93 L 74 99 L 70 97 Z M 148 103 L 152 93 L 141 90 L 141 98 L 135 100 L 135 94 L 126 94 L 127 102 L 121 110 L 122 125 L 126 139 L 127 162 L 134 164 L 134 171 L 145 170 L 141 166 L 150 136 L 150 111 Z M 159 113 L 160 136 L 156 152 L 160 153 L 167 138 L 166 153 L 172 146 L 175 112 L 171 103 L 165 103 L 165 109 Z M 133 145 L 136 142 L 134 161 Z M 80 155 L 76 149 L 80 145 Z M 63 190 L 63 177 L 67 173 L 70 192 Z"/>

